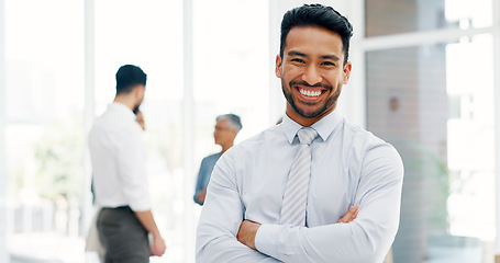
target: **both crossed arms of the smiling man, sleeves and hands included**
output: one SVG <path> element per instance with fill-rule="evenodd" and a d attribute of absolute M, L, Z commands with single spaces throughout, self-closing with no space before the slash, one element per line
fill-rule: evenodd
<path fill-rule="evenodd" d="M 197 232 L 197 262 L 382 262 L 399 225 L 402 164 L 369 160 L 341 222 L 292 227 L 249 221 L 232 165 L 215 165 Z M 399 162 L 397 162 L 399 161 Z M 252 219 L 252 218 L 248 218 Z M 262 224 L 262 225 L 260 225 Z"/>

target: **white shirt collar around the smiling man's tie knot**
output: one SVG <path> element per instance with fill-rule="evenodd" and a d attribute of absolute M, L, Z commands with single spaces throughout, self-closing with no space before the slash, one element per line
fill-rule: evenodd
<path fill-rule="evenodd" d="M 340 122 L 341 116 L 336 111 L 333 111 L 329 113 L 326 116 L 322 117 L 320 121 L 315 122 L 313 125 L 311 125 L 311 127 L 314 128 L 318 132 L 318 135 L 320 135 L 321 139 L 325 141 Z M 287 114 L 285 114 L 282 126 L 285 136 L 287 136 L 288 141 L 292 144 L 293 139 L 296 138 L 297 132 L 299 132 L 299 129 L 301 129 L 302 126 L 292 121 L 290 117 L 288 117 Z"/>

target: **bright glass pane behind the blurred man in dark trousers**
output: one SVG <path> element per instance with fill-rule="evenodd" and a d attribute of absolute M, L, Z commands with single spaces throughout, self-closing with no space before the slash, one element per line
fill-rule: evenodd
<path fill-rule="evenodd" d="M 96 113 L 115 94 L 114 75 L 132 64 L 147 75 L 141 111 L 153 215 L 167 243 L 160 261 L 184 262 L 182 1 L 96 1 Z M 159 260 L 159 259 L 156 259 Z"/>

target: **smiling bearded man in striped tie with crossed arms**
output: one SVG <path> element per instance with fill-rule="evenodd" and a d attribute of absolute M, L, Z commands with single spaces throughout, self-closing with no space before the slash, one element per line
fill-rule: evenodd
<path fill-rule="evenodd" d="M 399 226 L 403 167 L 391 145 L 335 111 L 351 36 L 330 7 L 285 14 L 276 76 L 286 116 L 215 164 L 197 262 L 382 262 Z"/>

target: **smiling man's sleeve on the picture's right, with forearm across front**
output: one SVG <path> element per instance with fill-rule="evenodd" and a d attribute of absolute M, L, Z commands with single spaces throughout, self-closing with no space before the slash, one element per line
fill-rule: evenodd
<path fill-rule="evenodd" d="M 313 228 L 262 225 L 255 245 L 284 262 L 382 262 L 399 226 L 403 165 L 390 145 L 369 149 L 356 193 L 360 204 L 349 224 Z"/>

